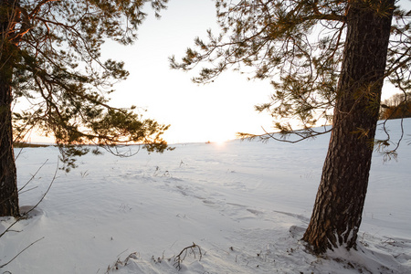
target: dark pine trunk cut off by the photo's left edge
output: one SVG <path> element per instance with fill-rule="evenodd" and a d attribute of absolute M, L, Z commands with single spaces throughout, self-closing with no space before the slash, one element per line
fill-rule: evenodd
<path fill-rule="evenodd" d="M 12 77 L 16 45 L 9 42 L 16 1 L 0 1 L 0 216 L 19 216 L 12 130 Z"/>

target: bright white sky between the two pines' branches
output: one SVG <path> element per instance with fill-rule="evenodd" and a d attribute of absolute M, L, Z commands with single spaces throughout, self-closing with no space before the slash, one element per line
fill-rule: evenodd
<path fill-rule="evenodd" d="M 195 37 L 206 40 L 208 28 L 218 32 L 214 1 L 172 0 L 161 15 L 160 20 L 153 13 L 147 17 L 134 45 L 107 42 L 104 47 L 102 59 L 123 60 L 130 71 L 129 79 L 114 87 L 111 104 L 135 105 L 147 109 L 145 118 L 171 124 L 163 135 L 169 143 L 221 142 L 237 132 L 270 131 L 269 114 L 254 111 L 254 105 L 269 101 L 269 80 L 248 81 L 227 71 L 214 83 L 197 85 L 191 81 L 195 73 L 170 68 L 168 58 L 184 57 Z"/>

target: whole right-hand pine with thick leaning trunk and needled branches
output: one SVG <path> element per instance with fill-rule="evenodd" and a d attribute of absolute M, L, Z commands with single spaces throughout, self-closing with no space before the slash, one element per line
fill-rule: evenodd
<path fill-rule="evenodd" d="M 332 123 L 303 240 L 315 253 L 355 248 L 374 144 L 389 143 L 374 140 L 384 81 L 411 88 L 410 12 L 395 0 L 216 0 L 216 10 L 221 33 L 195 38 L 180 62 L 170 58 L 172 68 L 205 62 L 193 79 L 200 83 L 228 68 L 270 79 L 271 100 L 256 109 L 269 111 L 283 137 L 310 138 L 328 132 L 313 125 Z M 300 121 L 299 132 L 290 120 Z"/>

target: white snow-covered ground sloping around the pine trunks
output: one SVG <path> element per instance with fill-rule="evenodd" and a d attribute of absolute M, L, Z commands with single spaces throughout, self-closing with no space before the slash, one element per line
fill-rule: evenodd
<path fill-rule="evenodd" d="M 394 138 L 398 125 L 389 122 Z M 411 119 L 405 130 L 397 162 L 374 153 L 358 250 L 317 258 L 300 241 L 329 135 L 297 144 L 187 143 L 132 158 L 90 153 L 69 174 L 58 172 L 31 217 L 0 238 L 0 265 L 38 241 L 0 272 L 411 273 Z M 47 159 L 20 205 L 47 191 L 58 150 L 18 156 L 20 185 Z M 13 221 L 2 218 L 0 232 Z"/>

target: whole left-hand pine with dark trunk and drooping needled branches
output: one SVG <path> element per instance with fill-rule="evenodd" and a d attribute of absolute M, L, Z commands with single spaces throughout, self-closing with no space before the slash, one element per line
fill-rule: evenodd
<path fill-rule="evenodd" d="M 101 45 L 136 39 L 151 4 L 156 16 L 168 0 L 0 0 L 0 216 L 18 216 L 13 142 L 31 130 L 51 134 L 66 168 L 81 144 L 138 142 L 167 149 L 168 126 L 142 119 L 134 107 L 113 108 L 112 85 L 126 79 L 122 62 L 101 60 Z M 14 111 L 15 103 L 30 107 Z"/>

